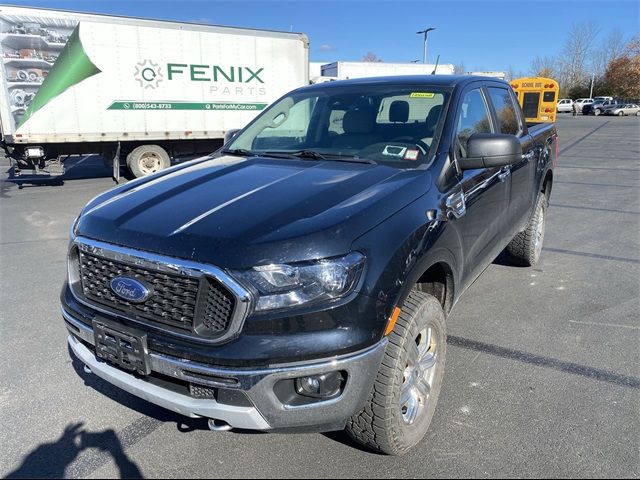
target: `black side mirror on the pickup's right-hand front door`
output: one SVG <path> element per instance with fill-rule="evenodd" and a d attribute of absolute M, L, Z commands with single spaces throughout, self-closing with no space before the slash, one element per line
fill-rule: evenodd
<path fill-rule="evenodd" d="M 515 135 L 474 133 L 467 141 L 467 156 L 458 165 L 462 170 L 512 165 L 522 160 L 522 145 Z"/>

